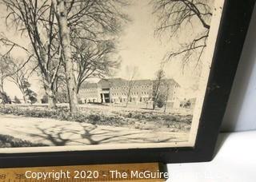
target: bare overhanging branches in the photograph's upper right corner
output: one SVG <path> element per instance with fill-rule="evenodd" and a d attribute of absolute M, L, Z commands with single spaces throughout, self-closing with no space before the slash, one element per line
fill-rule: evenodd
<path fill-rule="evenodd" d="M 201 60 L 202 53 L 206 49 L 209 36 L 210 19 L 212 17 L 213 0 L 152 0 L 154 14 L 158 16 L 158 27 L 156 33 L 169 34 L 170 38 L 176 36 L 184 37 L 186 26 L 193 30 L 199 30 L 193 38 L 186 38 L 181 48 L 171 50 L 166 55 L 167 60 L 182 56 L 182 63 L 186 65 L 190 57 L 197 57 L 197 64 Z"/>

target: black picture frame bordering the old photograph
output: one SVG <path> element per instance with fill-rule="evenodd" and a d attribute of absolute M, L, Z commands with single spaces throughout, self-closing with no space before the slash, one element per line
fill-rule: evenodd
<path fill-rule="evenodd" d="M 255 0 L 225 1 L 194 148 L 1 153 L 0 168 L 143 162 L 184 163 L 212 160 L 254 3 Z"/>

